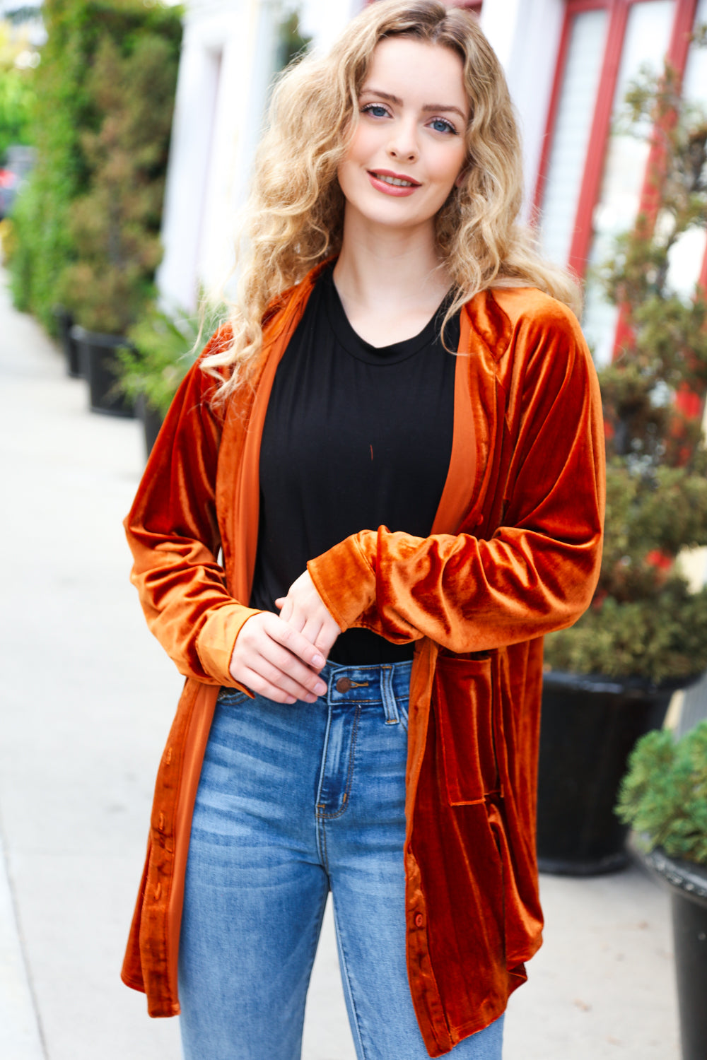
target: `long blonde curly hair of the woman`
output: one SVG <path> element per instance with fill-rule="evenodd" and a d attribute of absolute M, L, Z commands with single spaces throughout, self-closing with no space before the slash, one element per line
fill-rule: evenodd
<path fill-rule="evenodd" d="M 538 287 L 579 312 L 575 280 L 544 261 L 532 232 L 518 224 L 523 174 L 513 104 L 476 17 L 439 0 L 379 0 L 349 23 L 328 55 L 290 66 L 272 94 L 245 209 L 232 338 L 201 361 L 219 376 L 220 399 L 257 363 L 268 304 L 341 247 L 344 199 L 337 169 L 358 121 L 358 92 L 373 50 L 391 36 L 441 45 L 463 61 L 471 109 L 464 179 L 436 218 L 438 249 L 454 284 L 445 322 L 493 286 Z"/>

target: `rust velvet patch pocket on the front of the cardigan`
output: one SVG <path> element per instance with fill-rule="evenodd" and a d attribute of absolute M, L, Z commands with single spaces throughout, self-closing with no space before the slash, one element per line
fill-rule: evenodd
<path fill-rule="evenodd" d="M 483 802 L 499 789 L 493 729 L 491 657 L 441 655 L 434 705 L 452 806 Z"/>

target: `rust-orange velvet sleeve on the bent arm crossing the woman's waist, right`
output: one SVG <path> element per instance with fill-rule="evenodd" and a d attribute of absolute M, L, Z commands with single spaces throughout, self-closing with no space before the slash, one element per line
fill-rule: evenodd
<path fill-rule="evenodd" d="M 516 323 L 505 356 L 511 369 L 498 385 L 510 457 L 500 525 L 489 540 L 363 530 L 311 561 L 342 629 L 476 652 L 570 625 L 588 606 L 605 487 L 601 399 L 586 343 L 563 311 Z"/>

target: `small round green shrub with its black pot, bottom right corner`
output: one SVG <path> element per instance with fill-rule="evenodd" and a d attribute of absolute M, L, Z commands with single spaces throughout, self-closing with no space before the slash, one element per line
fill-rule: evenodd
<path fill-rule="evenodd" d="M 647 734 L 629 760 L 617 814 L 670 890 L 683 1060 L 707 1056 L 707 721 L 677 742 Z"/>

